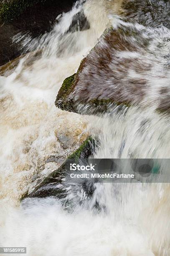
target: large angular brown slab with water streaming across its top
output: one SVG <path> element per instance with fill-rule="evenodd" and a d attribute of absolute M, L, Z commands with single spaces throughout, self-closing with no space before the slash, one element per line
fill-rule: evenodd
<path fill-rule="evenodd" d="M 170 31 L 114 20 L 99 43 L 64 80 L 56 107 L 94 114 L 150 105 L 170 110 Z"/>

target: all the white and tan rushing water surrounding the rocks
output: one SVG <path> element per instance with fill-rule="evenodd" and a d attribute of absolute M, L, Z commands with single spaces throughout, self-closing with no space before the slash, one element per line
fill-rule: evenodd
<path fill-rule="evenodd" d="M 29 55 L 23 57 L 12 74 L 0 77 L 0 246 L 26 246 L 31 256 L 170 255 L 169 184 L 95 184 L 93 196 L 83 205 L 77 202 L 83 197 L 77 187 L 71 212 L 63 210 L 62 200 L 51 197 L 19 203 L 88 133 L 100 141 L 96 158 L 170 156 L 169 118 L 152 109 L 132 108 L 99 118 L 54 106 L 63 79 L 76 72 L 112 22 L 107 18 L 112 1 L 105 3 L 77 4 L 37 40 L 17 37 L 24 48 L 41 54 L 29 64 Z M 67 32 L 82 9 L 90 29 Z M 51 156 L 58 160 L 47 161 Z M 70 188 L 68 198 L 74 195 Z"/>

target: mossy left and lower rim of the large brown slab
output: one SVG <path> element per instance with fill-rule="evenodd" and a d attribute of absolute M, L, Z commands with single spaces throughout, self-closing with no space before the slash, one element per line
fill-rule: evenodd
<path fill-rule="evenodd" d="M 105 99 L 105 98 L 92 98 L 88 101 L 84 101 L 83 99 L 79 99 L 77 102 L 74 101 L 74 97 L 72 93 L 74 89 L 77 87 L 79 83 L 79 75 L 81 75 L 81 71 L 86 68 L 86 62 L 89 56 L 96 51 L 96 48 L 103 40 L 103 38 L 113 33 L 113 28 L 107 28 L 104 33 L 99 38 L 99 43 L 94 46 L 93 49 L 89 52 L 88 56 L 82 59 L 80 66 L 77 70 L 77 73 L 67 77 L 58 92 L 56 97 L 55 105 L 57 108 L 61 110 L 66 110 L 69 112 L 80 113 L 80 114 L 101 114 L 105 112 L 110 112 L 113 109 L 122 110 L 130 106 L 129 102 L 126 101 L 115 101 L 113 99 Z M 123 28 L 118 28 L 114 33 L 124 33 L 125 36 L 136 36 L 136 31 L 127 31 Z M 102 51 L 102 49 L 101 49 Z M 86 87 L 86 83 L 84 83 L 84 88 Z"/>

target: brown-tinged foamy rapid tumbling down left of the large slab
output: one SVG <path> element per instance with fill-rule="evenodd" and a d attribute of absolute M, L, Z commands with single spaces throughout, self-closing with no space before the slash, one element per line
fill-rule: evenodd
<path fill-rule="evenodd" d="M 18 34 L 25 51 L 29 48 L 41 54 L 30 63 L 32 55 L 27 54 L 12 74 L 0 77 L 2 199 L 13 197 L 17 202 L 29 189 L 30 182 L 60 166 L 88 136 L 84 117 L 63 112 L 54 105 L 63 80 L 76 72 L 81 59 L 105 28 L 105 23 L 101 26 L 98 16 L 92 15 L 93 8 L 88 4 L 85 10 L 92 17 L 91 29 L 66 33 L 81 9 L 81 4 L 76 5 L 63 15 L 51 33 L 37 40 L 30 41 L 30 37 Z M 62 146 L 64 138 L 68 140 L 67 148 Z M 58 157 L 58 162 L 46 163 L 52 155 Z"/>

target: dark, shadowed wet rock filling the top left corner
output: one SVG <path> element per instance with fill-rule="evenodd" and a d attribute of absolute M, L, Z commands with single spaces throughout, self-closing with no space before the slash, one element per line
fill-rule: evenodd
<path fill-rule="evenodd" d="M 71 10 L 75 0 L 4 0 L 0 1 L 0 65 L 22 54 L 20 42 L 13 43 L 19 32 L 36 38 L 51 31 L 56 17 Z"/>

